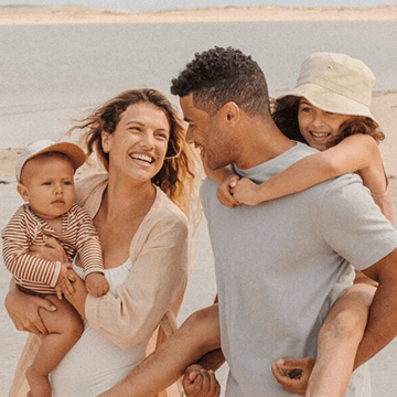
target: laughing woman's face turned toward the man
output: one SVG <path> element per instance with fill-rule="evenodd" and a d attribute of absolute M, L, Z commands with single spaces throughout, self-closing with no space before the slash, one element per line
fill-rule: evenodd
<path fill-rule="evenodd" d="M 138 183 L 150 181 L 164 163 L 169 139 L 170 124 L 164 111 L 149 103 L 130 105 L 114 133 L 103 133 L 109 172 Z"/>

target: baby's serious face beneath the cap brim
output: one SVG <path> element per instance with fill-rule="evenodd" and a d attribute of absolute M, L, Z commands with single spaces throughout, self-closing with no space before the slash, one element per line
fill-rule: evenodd
<path fill-rule="evenodd" d="M 69 211 L 75 200 L 74 167 L 61 153 L 41 154 L 22 170 L 23 200 L 43 219 L 54 219 Z"/>

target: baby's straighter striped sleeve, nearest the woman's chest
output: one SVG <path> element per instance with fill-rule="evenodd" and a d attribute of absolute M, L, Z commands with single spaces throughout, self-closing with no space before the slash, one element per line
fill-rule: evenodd
<path fill-rule="evenodd" d="M 78 229 L 76 237 L 76 249 L 82 259 L 85 275 L 92 272 L 104 273 L 103 254 L 98 233 L 88 213 L 76 206 Z"/>

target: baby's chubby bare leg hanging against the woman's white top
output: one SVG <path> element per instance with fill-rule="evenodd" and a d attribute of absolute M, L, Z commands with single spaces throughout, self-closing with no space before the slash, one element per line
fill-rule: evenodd
<path fill-rule="evenodd" d="M 51 397 L 49 374 L 83 333 L 82 318 L 66 299 L 58 300 L 56 296 L 47 296 L 46 299 L 56 307 L 56 311 L 40 309 L 40 316 L 49 334 L 43 337 L 39 352 L 26 371 L 31 397 Z"/>

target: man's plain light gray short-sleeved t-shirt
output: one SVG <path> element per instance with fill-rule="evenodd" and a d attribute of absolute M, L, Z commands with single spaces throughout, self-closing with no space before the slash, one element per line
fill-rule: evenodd
<path fill-rule="evenodd" d="M 260 183 L 314 152 L 297 143 L 276 159 L 236 171 Z M 397 247 L 397 232 L 355 174 L 233 210 L 219 204 L 217 187 L 207 179 L 201 195 L 230 368 L 226 396 L 291 396 L 273 378 L 271 362 L 315 357 L 320 314 L 353 282 L 348 262 L 357 269 L 377 262 Z M 371 395 L 367 375 L 354 383 L 358 369 L 346 396 Z"/>

